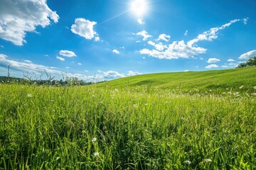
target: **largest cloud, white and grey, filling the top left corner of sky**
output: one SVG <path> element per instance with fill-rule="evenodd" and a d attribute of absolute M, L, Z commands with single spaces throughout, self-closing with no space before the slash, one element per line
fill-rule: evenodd
<path fill-rule="evenodd" d="M 36 27 L 45 28 L 53 21 L 57 23 L 58 14 L 46 4 L 46 0 L 1 0 L 0 38 L 15 45 L 26 43 L 26 33 L 36 33 Z"/>

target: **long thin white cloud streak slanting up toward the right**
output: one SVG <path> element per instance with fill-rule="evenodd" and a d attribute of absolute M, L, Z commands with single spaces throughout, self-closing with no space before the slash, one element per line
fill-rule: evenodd
<path fill-rule="evenodd" d="M 240 19 L 235 19 L 235 20 L 230 21 L 229 23 L 223 24 L 223 26 L 210 28 L 210 30 L 207 30 L 207 31 L 203 32 L 202 34 L 199 34 L 197 36 L 197 38 L 188 41 L 188 45 L 192 46 L 196 42 L 202 41 L 202 40 L 208 40 L 208 41 L 215 40 L 215 39 L 218 38 L 218 31 L 219 30 L 224 30 L 225 28 L 231 26 L 231 24 L 236 23 L 238 21 L 241 21 L 241 20 Z"/>

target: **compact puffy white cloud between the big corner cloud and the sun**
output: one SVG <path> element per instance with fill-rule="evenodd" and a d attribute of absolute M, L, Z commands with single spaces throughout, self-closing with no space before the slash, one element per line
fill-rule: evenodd
<path fill-rule="evenodd" d="M 75 18 L 75 24 L 71 26 L 71 31 L 87 40 L 91 40 L 97 34 L 93 30 L 93 26 L 96 24 L 95 21 L 89 21 L 85 18 Z"/>

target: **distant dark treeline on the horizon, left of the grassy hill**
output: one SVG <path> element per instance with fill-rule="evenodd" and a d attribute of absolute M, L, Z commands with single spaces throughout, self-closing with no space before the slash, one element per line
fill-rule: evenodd
<path fill-rule="evenodd" d="M 29 84 L 29 85 L 48 85 L 48 86 L 85 86 L 93 84 L 93 82 L 82 81 L 76 77 L 70 77 L 65 80 L 55 80 L 55 79 L 40 79 L 33 80 L 28 78 L 17 78 L 17 77 L 0 77 L 0 84 Z"/>

